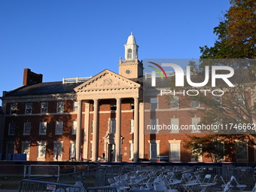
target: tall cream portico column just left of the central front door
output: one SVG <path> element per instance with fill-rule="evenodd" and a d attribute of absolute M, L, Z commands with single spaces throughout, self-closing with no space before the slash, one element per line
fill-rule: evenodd
<path fill-rule="evenodd" d="M 98 159 L 98 140 L 99 140 L 99 129 L 98 129 L 98 117 L 99 117 L 99 101 L 94 99 L 94 111 L 93 111 L 93 145 L 92 145 L 92 160 Z"/>

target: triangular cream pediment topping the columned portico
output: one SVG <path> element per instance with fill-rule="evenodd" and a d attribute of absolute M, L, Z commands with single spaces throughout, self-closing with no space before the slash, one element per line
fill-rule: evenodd
<path fill-rule="evenodd" d="M 124 78 L 121 75 L 118 75 L 114 72 L 105 69 L 103 72 L 100 72 L 98 75 L 93 76 L 88 81 L 83 84 L 75 87 L 76 92 L 87 91 L 87 90 L 118 90 L 118 89 L 133 89 L 141 87 L 140 84 L 137 84 L 130 79 Z"/>

